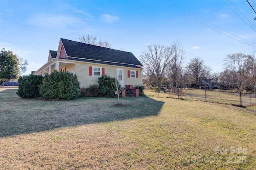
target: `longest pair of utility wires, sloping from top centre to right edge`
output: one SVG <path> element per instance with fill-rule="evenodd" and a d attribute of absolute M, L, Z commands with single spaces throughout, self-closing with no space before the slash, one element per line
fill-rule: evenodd
<path fill-rule="evenodd" d="M 170 0 L 168 0 L 168 1 L 170 2 Z M 173 2 L 171 2 L 171 3 L 174 4 Z M 170 4 L 167 4 L 167 5 L 170 6 L 170 7 L 172 7 L 172 8 L 174 8 L 174 7 L 171 6 Z M 174 5 L 178 6 L 177 4 L 174 4 Z M 180 6 L 178 6 L 178 7 L 181 8 L 181 9 L 183 9 L 183 10 L 185 10 L 184 8 L 182 8 L 182 7 L 180 7 Z M 180 13 L 182 13 L 182 14 L 184 14 L 184 15 L 190 17 L 190 18 L 192 18 L 193 20 L 196 20 L 197 22 L 203 24 L 204 26 L 207 26 L 207 27 L 211 28 L 212 30 L 217 31 L 217 32 L 219 32 L 220 34 L 223 34 L 223 35 L 225 35 L 225 36 L 228 36 L 227 34 L 224 34 L 223 32 L 220 32 L 220 31 L 218 31 L 218 30 L 216 30 L 216 29 L 214 29 L 214 28 L 212 28 L 212 27 L 210 27 L 210 26 L 204 24 L 203 22 L 197 20 L 196 18 L 193 18 L 192 16 L 189 16 L 188 14 L 186 14 L 186 13 L 184 13 L 184 12 L 178 10 L 177 8 L 174 8 L 174 9 L 177 10 L 178 12 L 180 12 Z M 190 14 L 192 14 L 191 12 L 189 12 L 189 11 L 187 11 L 187 10 L 185 10 L 185 11 L 188 12 L 188 13 L 190 13 Z M 194 14 L 192 14 L 192 15 L 194 15 Z M 194 16 L 196 16 L 196 15 L 194 15 Z M 198 16 L 196 16 L 196 17 L 197 17 L 197 18 L 200 18 L 200 17 L 198 17 Z M 204 20 L 204 19 L 202 19 L 202 18 L 200 18 L 200 19 L 203 20 L 203 21 L 205 21 L 205 22 L 207 22 L 207 23 L 209 23 L 209 24 L 211 24 L 210 22 L 208 22 L 208 21 L 206 21 L 206 20 Z M 211 25 L 215 26 L 214 24 L 211 24 Z M 215 26 L 215 27 L 219 28 L 218 26 Z M 220 29 L 220 30 L 223 30 L 222 28 L 219 28 L 219 29 Z M 227 31 L 225 31 L 225 30 L 223 30 L 223 31 L 224 31 L 224 32 L 227 32 Z M 235 37 L 237 37 L 237 38 L 240 38 L 240 37 L 238 37 L 238 36 L 236 36 L 236 35 L 234 35 L 234 34 L 232 34 L 232 33 L 230 33 L 230 32 L 227 32 L 227 33 L 228 33 L 228 34 L 231 34 L 231 35 L 233 35 L 233 36 L 235 36 Z M 232 38 L 232 39 L 234 39 L 234 40 L 237 40 L 237 39 L 234 38 L 234 37 L 231 37 L 231 36 L 228 36 L 228 37 L 229 37 L 229 38 Z M 247 41 L 247 40 L 245 40 L 245 39 L 243 39 L 243 38 L 240 38 L 240 39 L 242 39 L 242 40 L 244 40 L 244 41 L 246 41 L 246 42 L 249 42 L 249 41 Z M 242 42 L 242 41 L 240 41 L 240 40 L 237 40 L 237 41 Z M 247 45 L 251 45 L 251 44 L 248 44 L 248 43 L 246 43 L 246 42 L 242 42 L 242 43 L 245 43 L 245 44 L 247 44 Z M 249 42 L 249 43 L 255 44 L 255 45 L 251 45 L 251 46 L 256 47 L 256 43 L 253 43 L 253 42 Z"/>

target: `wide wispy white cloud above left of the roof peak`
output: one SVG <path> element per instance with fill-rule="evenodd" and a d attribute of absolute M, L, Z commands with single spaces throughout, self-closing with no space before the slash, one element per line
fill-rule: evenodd
<path fill-rule="evenodd" d="M 31 25 L 48 28 L 63 28 L 65 26 L 76 25 L 81 22 L 83 21 L 80 18 L 74 16 L 51 14 L 35 16 L 28 20 L 28 23 Z"/>

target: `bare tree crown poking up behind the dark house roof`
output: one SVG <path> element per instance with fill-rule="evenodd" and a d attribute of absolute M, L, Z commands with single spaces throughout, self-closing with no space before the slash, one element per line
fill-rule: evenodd
<path fill-rule="evenodd" d="M 99 40 L 97 42 L 97 37 L 92 37 L 92 35 L 90 35 L 90 34 L 87 34 L 87 36 L 82 36 L 78 39 L 82 43 L 88 43 L 88 44 L 91 44 L 91 45 L 98 45 L 98 46 L 101 46 L 101 47 L 111 48 L 111 43 L 109 43 L 108 41 L 102 41 L 102 40 Z"/>

